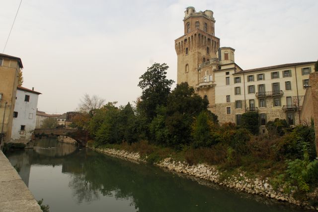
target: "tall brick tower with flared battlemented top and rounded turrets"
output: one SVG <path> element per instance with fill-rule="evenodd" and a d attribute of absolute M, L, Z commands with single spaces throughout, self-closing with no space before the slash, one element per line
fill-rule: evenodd
<path fill-rule="evenodd" d="M 198 84 L 199 64 L 217 57 L 220 39 L 215 37 L 213 12 L 196 12 L 189 6 L 184 11 L 184 35 L 177 38 L 177 83 L 188 82 L 189 86 Z"/>

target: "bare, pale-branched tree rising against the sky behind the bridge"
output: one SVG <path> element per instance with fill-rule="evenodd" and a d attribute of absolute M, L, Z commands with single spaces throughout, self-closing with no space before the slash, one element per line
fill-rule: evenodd
<path fill-rule="evenodd" d="M 105 100 L 96 95 L 89 96 L 85 94 L 80 100 L 79 111 L 87 113 L 89 117 L 93 117 L 96 109 L 100 109 L 104 105 Z"/>

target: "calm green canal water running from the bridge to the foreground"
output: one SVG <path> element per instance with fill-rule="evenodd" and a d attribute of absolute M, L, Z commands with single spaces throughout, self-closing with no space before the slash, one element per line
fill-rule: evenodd
<path fill-rule="evenodd" d="M 50 212 L 304 211 L 54 139 L 38 140 L 37 146 L 6 155 Z"/>

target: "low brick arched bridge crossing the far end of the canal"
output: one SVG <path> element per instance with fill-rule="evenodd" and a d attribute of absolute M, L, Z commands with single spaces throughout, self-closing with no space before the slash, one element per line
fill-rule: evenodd
<path fill-rule="evenodd" d="M 42 129 L 38 128 L 34 130 L 35 136 L 39 135 L 65 135 L 76 140 L 80 146 L 85 147 L 88 140 L 88 132 L 85 130 L 68 129 L 68 128 L 51 128 Z"/>

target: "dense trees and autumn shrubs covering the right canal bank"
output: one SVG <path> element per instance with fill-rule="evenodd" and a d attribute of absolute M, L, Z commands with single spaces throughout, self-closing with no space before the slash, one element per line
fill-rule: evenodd
<path fill-rule="evenodd" d="M 259 135 L 257 112 L 244 113 L 239 126 L 222 123 L 207 109 L 208 100 L 187 83 L 172 91 L 166 64 L 155 63 L 140 77 L 143 90 L 136 106 L 108 103 L 86 110 L 74 125 L 88 130 L 98 147 L 139 152 L 149 162 L 171 157 L 190 164 L 217 165 L 223 173 L 244 171 L 270 177 L 285 192 L 313 191 L 318 182 L 313 124 L 288 126 L 275 119 Z M 299 195 L 301 196 L 301 195 Z"/>

